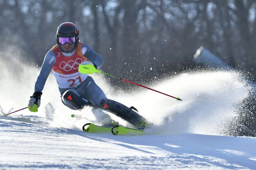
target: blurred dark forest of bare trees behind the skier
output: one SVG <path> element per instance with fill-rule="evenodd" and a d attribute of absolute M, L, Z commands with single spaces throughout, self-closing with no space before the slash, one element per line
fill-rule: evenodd
<path fill-rule="evenodd" d="M 0 45 L 41 66 L 67 21 L 105 58 L 104 71 L 126 78 L 192 66 L 201 45 L 256 72 L 255 0 L 0 0 Z"/>

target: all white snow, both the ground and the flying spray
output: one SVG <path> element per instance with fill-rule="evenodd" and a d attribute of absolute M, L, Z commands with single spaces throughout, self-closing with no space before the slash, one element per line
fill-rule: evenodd
<path fill-rule="evenodd" d="M 39 68 L 16 62 L 0 62 L 2 113 L 26 107 L 39 73 Z M 16 69 L 9 70 L 10 63 Z M 93 113 L 90 108 L 78 112 L 63 106 L 50 75 L 39 112 L 22 110 L 0 116 L 0 169 L 256 169 L 256 138 L 225 136 L 238 110 L 247 109 L 242 106 L 253 90 L 239 73 L 192 72 L 150 86 L 183 101 L 144 89 L 125 93 L 112 89 L 102 75 L 93 78 L 110 99 L 135 106 L 157 125 L 153 130 L 158 133 L 83 132 L 87 119 L 95 121 Z"/>

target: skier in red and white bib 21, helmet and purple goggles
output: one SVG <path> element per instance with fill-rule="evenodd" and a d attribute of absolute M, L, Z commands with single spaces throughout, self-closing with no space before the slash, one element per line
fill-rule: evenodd
<path fill-rule="evenodd" d="M 90 46 L 79 42 L 79 31 L 75 24 L 64 22 L 59 25 L 56 40 L 57 44 L 45 55 L 35 82 L 35 91 L 28 104 L 31 112 L 38 111 L 46 79 L 52 70 L 59 86 L 61 101 L 70 109 L 82 110 L 84 106 L 92 106 L 92 112 L 102 126 L 118 125 L 102 110 L 121 117 L 135 128 L 145 129 L 149 126 L 145 118 L 131 108 L 108 99 L 92 77 L 78 71 L 80 64 L 91 64 L 98 69 L 104 64 L 104 59 Z"/>

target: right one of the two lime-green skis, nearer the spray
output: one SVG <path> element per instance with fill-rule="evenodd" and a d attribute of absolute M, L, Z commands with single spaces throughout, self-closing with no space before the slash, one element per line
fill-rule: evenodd
<path fill-rule="evenodd" d="M 113 135 L 146 135 L 144 130 L 126 128 L 124 126 L 114 126 L 111 130 Z"/>

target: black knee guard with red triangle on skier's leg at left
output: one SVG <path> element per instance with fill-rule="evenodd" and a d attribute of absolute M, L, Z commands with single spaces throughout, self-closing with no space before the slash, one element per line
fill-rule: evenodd
<path fill-rule="evenodd" d="M 73 110 L 81 110 L 84 106 L 90 105 L 90 103 L 74 89 L 65 91 L 61 100 L 66 106 Z"/>

